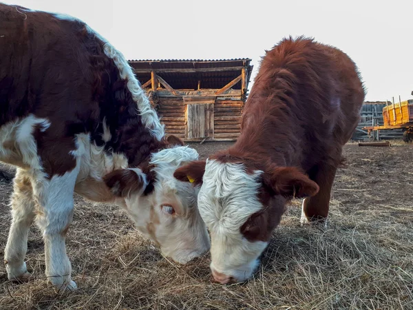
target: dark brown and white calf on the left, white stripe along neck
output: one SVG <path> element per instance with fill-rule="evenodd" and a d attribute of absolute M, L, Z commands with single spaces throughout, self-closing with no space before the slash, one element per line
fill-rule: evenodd
<path fill-rule="evenodd" d="M 0 161 L 17 166 L 9 279 L 30 275 L 24 258 L 36 218 L 48 279 L 76 288 L 65 249 L 74 192 L 123 207 L 177 262 L 209 249 L 198 189 L 173 178 L 198 153 L 165 137 L 123 54 L 72 17 L 1 3 L 0 45 Z"/>

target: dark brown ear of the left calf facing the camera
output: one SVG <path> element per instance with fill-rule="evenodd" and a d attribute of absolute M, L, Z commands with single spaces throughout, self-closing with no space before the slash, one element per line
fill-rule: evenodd
<path fill-rule="evenodd" d="M 106 174 L 103 181 L 116 197 L 143 194 L 148 185 L 147 176 L 139 168 L 118 169 Z"/>

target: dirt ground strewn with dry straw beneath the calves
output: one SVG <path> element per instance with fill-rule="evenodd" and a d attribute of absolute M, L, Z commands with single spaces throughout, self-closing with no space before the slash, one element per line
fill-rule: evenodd
<path fill-rule="evenodd" d="M 192 146 L 204 158 L 229 144 Z M 169 262 L 118 207 L 76 196 L 67 253 L 78 291 L 56 294 L 46 284 L 43 241 L 33 227 L 33 276 L 10 282 L 1 266 L 0 309 L 413 309 L 413 145 L 349 143 L 344 156 L 328 227 L 300 227 L 301 201 L 293 201 L 244 284 L 213 283 L 208 255 L 184 266 Z M 0 256 L 11 192 L 0 174 Z"/>

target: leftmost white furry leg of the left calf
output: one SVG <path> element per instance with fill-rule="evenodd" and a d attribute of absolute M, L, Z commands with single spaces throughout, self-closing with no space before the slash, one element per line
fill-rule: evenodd
<path fill-rule="evenodd" d="M 9 280 L 30 277 L 24 258 L 28 250 L 28 232 L 34 219 L 33 189 L 29 176 L 17 169 L 12 194 L 12 225 L 10 226 L 4 263 Z"/>

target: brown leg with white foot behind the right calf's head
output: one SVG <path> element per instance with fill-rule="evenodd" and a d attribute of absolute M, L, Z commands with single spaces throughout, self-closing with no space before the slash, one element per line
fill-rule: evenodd
<path fill-rule="evenodd" d="M 311 179 L 319 185 L 319 192 L 313 197 L 304 199 L 301 207 L 301 225 L 310 222 L 324 222 L 328 216 L 330 194 L 337 167 L 323 164 L 313 169 Z"/>

